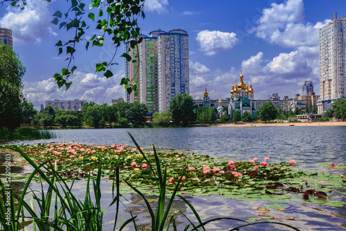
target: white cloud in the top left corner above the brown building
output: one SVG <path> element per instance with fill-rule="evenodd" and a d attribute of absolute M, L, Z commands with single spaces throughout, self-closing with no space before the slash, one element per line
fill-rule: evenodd
<path fill-rule="evenodd" d="M 28 0 L 27 3 L 24 10 L 9 6 L 6 15 L 0 19 L 0 27 L 12 30 L 14 46 L 38 44 L 45 37 L 56 35 L 48 2 Z"/>

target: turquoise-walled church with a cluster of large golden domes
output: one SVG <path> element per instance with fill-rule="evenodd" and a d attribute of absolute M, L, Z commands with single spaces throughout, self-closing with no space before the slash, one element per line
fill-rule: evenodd
<path fill-rule="evenodd" d="M 240 116 L 247 111 L 250 115 L 257 118 L 256 101 L 253 98 L 253 84 L 250 83 L 250 86 L 248 86 L 244 84 L 243 79 L 244 76 L 241 73 L 239 84 L 235 82 L 230 91 L 230 104 L 228 106 L 230 120 L 232 120 L 235 111 L 239 111 Z"/>

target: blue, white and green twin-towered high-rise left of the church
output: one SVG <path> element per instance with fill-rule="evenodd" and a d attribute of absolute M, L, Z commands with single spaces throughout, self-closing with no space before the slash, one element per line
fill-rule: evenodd
<path fill-rule="evenodd" d="M 170 100 L 179 93 L 190 93 L 188 33 L 184 30 L 154 30 L 130 54 L 135 62 L 125 61 L 125 77 L 138 88 L 126 93 L 126 102 L 140 102 L 148 111 L 167 111 Z M 125 52 L 129 44 L 125 44 Z M 139 55 L 139 62 L 138 61 Z"/>

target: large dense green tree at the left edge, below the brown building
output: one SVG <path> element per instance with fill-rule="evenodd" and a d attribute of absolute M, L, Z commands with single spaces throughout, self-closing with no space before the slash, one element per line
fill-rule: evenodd
<path fill-rule="evenodd" d="M 0 43 L 0 129 L 16 129 L 22 121 L 21 102 L 26 68 L 18 55 L 6 44 Z"/>

